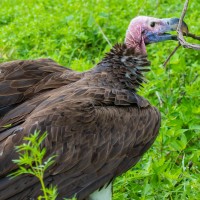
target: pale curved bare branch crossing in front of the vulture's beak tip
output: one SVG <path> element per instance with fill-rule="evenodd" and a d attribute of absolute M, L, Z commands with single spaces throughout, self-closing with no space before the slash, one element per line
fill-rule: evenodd
<path fill-rule="evenodd" d="M 189 42 L 186 42 L 185 39 L 184 39 L 184 37 L 183 37 L 183 33 L 181 31 L 181 26 L 182 26 L 182 23 L 183 23 L 183 19 L 185 17 L 185 14 L 186 14 L 186 11 L 187 11 L 187 8 L 188 8 L 188 2 L 189 2 L 189 0 L 185 1 L 184 7 L 183 7 L 183 11 L 181 13 L 181 17 L 180 17 L 180 20 L 179 20 L 179 24 L 178 24 L 178 28 L 177 28 L 178 40 L 179 40 L 181 46 L 183 46 L 184 48 L 190 48 L 190 49 L 200 50 L 200 45 L 198 45 L 198 44 L 191 44 Z M 190 36 L 191 36 L 191 34 L 190 34 Z"/>

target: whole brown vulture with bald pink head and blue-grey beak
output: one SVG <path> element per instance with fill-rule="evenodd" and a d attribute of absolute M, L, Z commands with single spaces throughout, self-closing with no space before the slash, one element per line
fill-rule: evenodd
<path fill-rule="evenodd" d="M 114 178 L 140 160 L 160 128 L 158 109 L 137 94 L 149 71 L 146 45 L 177 40 L 167 32 L 178 23 L 132 19 L 125 42 L 83 73 L 51 59 L 0 64 L 0 200 L 41 195 L 32 175 L 8 177 L 18 169 L 15 146 L 35 130 L 48 133 L 45 159 L 56 155 L 44 181 L 58 187 L 57 199 L 111 200 Z"/>

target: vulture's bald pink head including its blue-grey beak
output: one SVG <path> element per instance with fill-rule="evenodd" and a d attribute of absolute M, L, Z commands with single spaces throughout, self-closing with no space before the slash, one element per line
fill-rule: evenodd
<path fill-rule="evenodd" d="M 177 29 L 178 18 L 158 19 L 154 17 L 138 16 L 130 22 L 126 32 L 125 43 L 135 49 L 136 53 L 146 54 L 146 45 L 166 40 L 177 40 L 176 36 L 167 31 Z M 182 30 L 187 32 L 187 25 L 183 22 Z"/>

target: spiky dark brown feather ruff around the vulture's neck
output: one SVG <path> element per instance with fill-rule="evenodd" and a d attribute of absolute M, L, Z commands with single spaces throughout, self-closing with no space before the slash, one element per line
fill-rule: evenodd
<path fill-rule="evenodd" d="M 143 72 L 149 71 L 146 55 L 139 55 L 125 44 L 115 45 L 105 58 L 92 70 L 98 85 L 136 91 L 144 82 Z"/>

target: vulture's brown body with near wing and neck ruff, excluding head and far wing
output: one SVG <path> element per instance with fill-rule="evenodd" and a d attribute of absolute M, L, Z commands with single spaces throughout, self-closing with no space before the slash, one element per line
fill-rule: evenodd
<path fill-rule="evenodd" d="M 149 62 L 117 45 L 94 69 L 69 85 L 46 91 L 9 111 L 0 122 L 0 199 L 37 198 L 36 178 L 17 169 L 14 146 L 34 130 L 47 131 L 46 158 L 57 155 L 45 174 L 59 197 L 87 198 L 134 166 L 154 142 L 160 114 L 136 94 Z M 7 192 L 5 192 L 7 191 Z"/>

